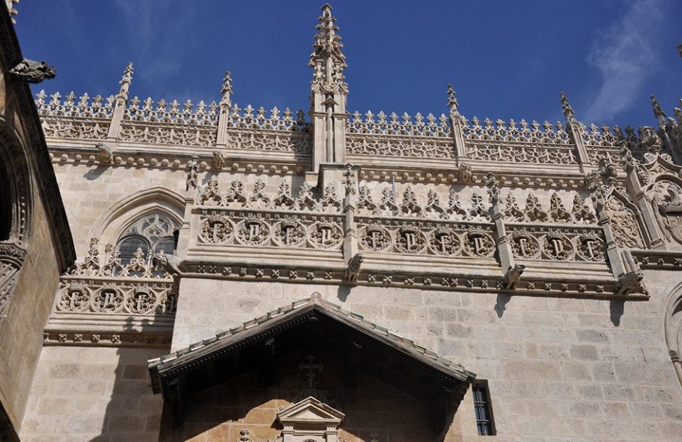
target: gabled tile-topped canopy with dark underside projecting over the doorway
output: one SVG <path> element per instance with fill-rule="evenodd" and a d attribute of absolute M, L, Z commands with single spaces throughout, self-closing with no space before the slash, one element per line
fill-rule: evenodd
<path fill-rule="evenodd" d="M 358 372 L 385 380 L 433 407 L 442 428 L 475 375 L 409 339 L 392 334 L 359 314 L 314 293 L 174 353 L 149 361 L 154 393 L 161 392 L 181 424 L 188 395 L 256 368 L 273 382 L 276 360 L 305 346 L 339 353 L 348 364 L 348 382 Z"/>

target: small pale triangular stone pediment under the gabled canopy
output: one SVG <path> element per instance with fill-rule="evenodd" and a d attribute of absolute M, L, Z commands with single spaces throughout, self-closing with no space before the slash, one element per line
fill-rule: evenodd
<path fill-rule="evenodd" d="M 336 442 L 345 415 L 312 396 L 277 414 L 282 442 Z"/>

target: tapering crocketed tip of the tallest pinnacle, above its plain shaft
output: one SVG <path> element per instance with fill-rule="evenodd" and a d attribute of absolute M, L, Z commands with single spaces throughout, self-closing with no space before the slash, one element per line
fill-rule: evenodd
<path fill-rule="evenodd" d="M 322 16 L 317 18 L 317 34 L 312 44 L 314 51 L 310 55 L 309 67 L 314 69 L 312 89 L 315 94 L 348 94 L 348 84 L 343 77 L 346 69 L 346 56 L 341 53 L 343 43 L 337 34 L 336 18 L 331 15 L 331 6 L 322 6 Z"/>

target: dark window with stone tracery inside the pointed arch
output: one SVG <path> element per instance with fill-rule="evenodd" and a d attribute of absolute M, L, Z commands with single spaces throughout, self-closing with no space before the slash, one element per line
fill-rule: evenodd
<path fill-rule="evenodd" d="M 116 246 L 120 252 L 121 263 L 125 266 L 135 255 L 150 256 L 163 250 L 166 254 L 175 251 L 178 226 L 165 215 L 153 213 L 144 215 L 132 222 L 120 235 Z"/>

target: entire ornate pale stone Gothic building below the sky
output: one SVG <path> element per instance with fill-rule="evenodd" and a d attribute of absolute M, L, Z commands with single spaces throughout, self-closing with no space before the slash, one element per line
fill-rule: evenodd
<path fill-rule="evenodd" d="M 1 30 L 6 440 L 682 439 L 680 109 L 351 113 L 329 5 L 305 112 L 31 97 Z"/>

